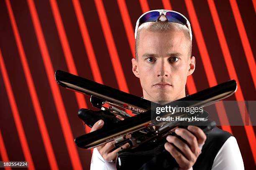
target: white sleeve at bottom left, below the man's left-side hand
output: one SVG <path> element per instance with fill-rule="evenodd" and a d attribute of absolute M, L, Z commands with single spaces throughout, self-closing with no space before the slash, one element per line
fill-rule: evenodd
<path fill-rule="evenodd" d="M 90 170 L 116 170 L 115 162 L 105 161 L 95 147 L 92 152 Z"/>

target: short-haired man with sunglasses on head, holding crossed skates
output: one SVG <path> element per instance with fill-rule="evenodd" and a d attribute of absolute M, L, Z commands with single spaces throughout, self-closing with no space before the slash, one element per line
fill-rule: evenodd
<path fill-rule="evenodd" d="M 149 11 L 138 19 L 135 38 L 136 59 L 132 59 L 132 71 L 141 81 L 143 98 L 174 101 L 185 97 L 187 76 L 195 71 L 195 57 L 191 56 L 192 32 L 187 18 L 175 11 Z M 103 124 L 102 120 L 96 122 L 92 131 Z M 189 126 L 188 129 L 177 128 L 175 133 L 187 143 L 167 136 L 164 148 L 169 152 L 167 156 L 176 160 L 179 170 L 244 169 L 236 139 L 228 132 L 215 128 L 206 137 L 199 127 Z M 113 162 L 117 152 L 128 148 L 129 144 L 111 152 L 113 147 L 113 142 L 109 142 L 94 149 L 91 169 L 115 169 Z M 152 160 L 142 169 L 155 164 L 159 169 L 164 168 L 160 166 L 161 161 Z"/>

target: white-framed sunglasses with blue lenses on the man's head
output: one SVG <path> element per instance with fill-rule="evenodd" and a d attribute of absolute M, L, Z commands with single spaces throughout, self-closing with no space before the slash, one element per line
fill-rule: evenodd
<path fill-rule="evenodd" d="M 190 39 L 192 40 L 192 31 L 191 31 L 191 26 L 190 26 L 189 20 L 187 20 L 187 18 L 184 15 L 182 15 L 181 13 L 178 13 L 173 10 L 151 10 L 146 13 L 143 13 L 140 16 L 140 18 L 137 20 L 137 23 L 136 23 L 135 39 L 136 39 L 138 27 L 141 24 L 146 23 L 146 22 L 155 22 L 161 17 L 161 15 L 165 15 L 168 22 L 180 23 L 182 25 L 186 25 L 187 28 L 189 29 Z"/>

